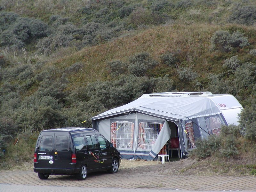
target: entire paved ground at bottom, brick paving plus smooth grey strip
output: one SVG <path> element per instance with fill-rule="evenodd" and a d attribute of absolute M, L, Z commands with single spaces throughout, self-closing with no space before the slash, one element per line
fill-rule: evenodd
<path fill-rule="evenodd" d="M 0 192 L 34 191 L 34 189 L 35 191 L 42 191 L 38 188 L 45 188 L 44 191 L 69 192 L 70 188 L 72 191 L 86 188 L 88 192 L 107 192 L 108 190 L 112 192 L 155 192 L 160 190 L 256 192 L 256 177 L 132 175 L 99 172 L 89 174 L 84 181 L 78 181 L 74 176 L 65 175 L 50 175 L 47 180 L 40 180 L 37 173 L 33 171 L 0 172 Z"/>

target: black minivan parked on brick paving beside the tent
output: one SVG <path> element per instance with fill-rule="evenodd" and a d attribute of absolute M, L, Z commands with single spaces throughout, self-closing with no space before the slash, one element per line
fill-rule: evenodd
<path fill-rule="evenodd" d="M 89 172 L 116 173 L 119 151 L 92 128 L 59 128 L 42 131 L 36 142 L 34 172 L 40 179 L 49 175 L 76 174 L 84 180 Z"/>

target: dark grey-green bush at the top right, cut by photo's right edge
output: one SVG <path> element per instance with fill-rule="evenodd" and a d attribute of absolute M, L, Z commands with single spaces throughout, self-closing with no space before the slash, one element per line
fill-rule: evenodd
<path fill-rule="evenodd" d="M 256 6 L 245 5 L 237 6 L 232 10 L 232 14 L 229 16 L 228 21 L 231 23 L 239 23 L 246 25 L 255 24 L 256 20 Z"/>

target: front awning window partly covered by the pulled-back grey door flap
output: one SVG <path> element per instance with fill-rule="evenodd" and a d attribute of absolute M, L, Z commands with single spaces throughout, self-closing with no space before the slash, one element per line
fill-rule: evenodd
<path fill-rule="evenodd" d="M 164 124 L 143 122 L 139 124 L 138 148 L 152 149 Z"/>

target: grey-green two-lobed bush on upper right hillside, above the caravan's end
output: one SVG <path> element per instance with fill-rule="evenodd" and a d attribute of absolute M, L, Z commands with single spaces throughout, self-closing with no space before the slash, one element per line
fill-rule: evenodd
<path fill-rule="evenodd" d="M 212 49 L 229 52 L 233 47 L 243 48 L 249 45 L 248 38 L 244 37 L 239 31 L 235 31 L 232 35 L 228 31 L 216 31 L 212 38 Z"/>

